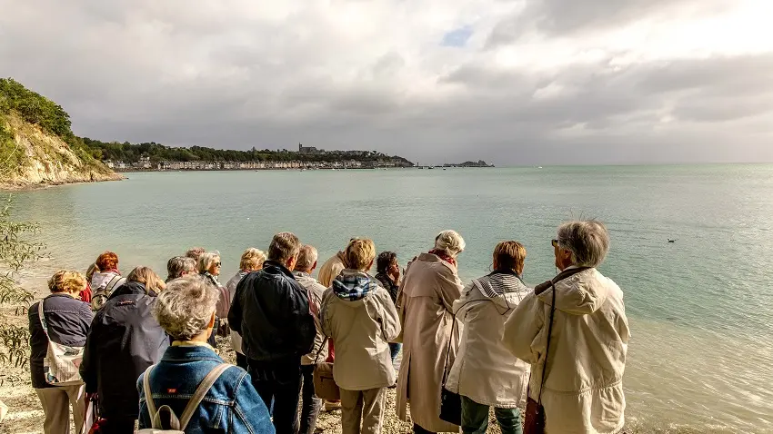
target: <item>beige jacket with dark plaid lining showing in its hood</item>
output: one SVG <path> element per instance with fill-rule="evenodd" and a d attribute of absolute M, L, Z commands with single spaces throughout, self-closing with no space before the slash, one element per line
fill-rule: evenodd
<path fill-rule="evenodd" d="M 333 378 L 344 390 L 391 386 L 395 384 L 395 368 L 389 341 L 400 332 L 395 304 L 389 292 L 378 286 L 376 278 L 365 272 L 345 270 L 341 276 L 345 280 L 356 276 L 368 290 L 364 296 L 349 298 L 337 295 L 331 287 L 322 298 L 322 330 L 336 342 Z"/>

